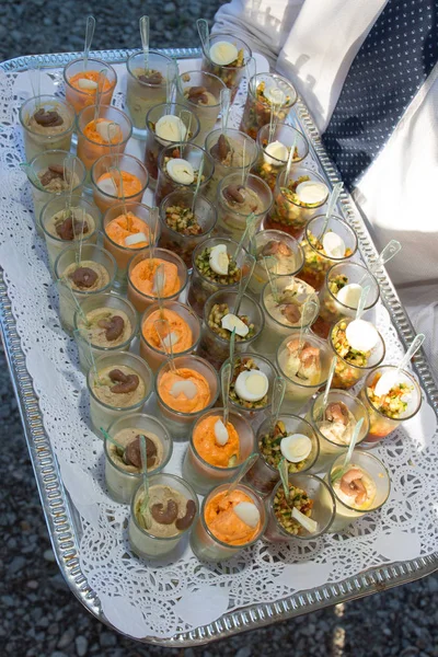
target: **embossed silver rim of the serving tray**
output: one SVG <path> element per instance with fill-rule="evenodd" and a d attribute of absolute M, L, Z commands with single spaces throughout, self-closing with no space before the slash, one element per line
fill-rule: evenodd
<path fill-rule="evenodd" d="M 125 61 L 132 51 L 96 50 L 92 53 L 92 56 L 111 64 L 117 64 Z M 199 56 L 199 50 L 196 48 L 165 49 L 163 51 L 178 59 Z M 39 62 L 42 68 L 62 67 L 79 56 L 79 53 L 65 53 L 18 57 L 0 64 L 0 70 L 18 73 L 26 71 L 30 65 L 36 61 Z M 327 182 L 334 185 L 339 182 L 341 176 L 322 146 L 312 117 L 300 100 L 296 105 L 296 110 L 298 123 L 301 129 L 306 131 L 312 154 L 319 159 Z M 371 265 L 378 253 L 364 218 L 347 192 L 343 192 L 341 203 L 345 217 L 357 232 L 361 256 L 367 265 Z M 377 278 L 380 284 L 381 299 L 390 313 L 401 342 L 406 347 L 415 335 L 414 328 L 384 268 L 378 272 Z M 16 332 L 15 320 L 11 311 L 11 302 L 1 270 L 0 328 L 12 387 L 18 400 L 24 435 L 58 566 L 78 600 L 96 619 L 112 626 L 103 615 L 99 598 L 89 586 L 80 568 L 78 515 L 68 493 L 64 488 L 59 468 L 44 428 L 38 399 L 33 389 L 32 378 L 26 369 L 25 356 L 21 348 L 20 336 Z M 438 389 L 435 385 L 423 350 L 416 355 L 414 367 L 429 403 L 438 416 Z M 300 591 L 278 600 L 278 602 L 245 607 L 227 613 L 214 623 L 197 627 L 192 632 L 176 634 L 165 639 L 145 637 L 142 641 L 170 647 L 201 645 L 210 641 L 226 638 L 239 632 L 246 632 L 274 622 L 285 621 L 324 607 L 355 600 L 401 584 L 414 581 L 434 573 L 436 569 L 438 569 L 438 552 L 425 557 L 418 556 L 412 561 L 393 563 L 380 568 L 370 568 L 364 573 L 358 573 L 355 577 Z"/>

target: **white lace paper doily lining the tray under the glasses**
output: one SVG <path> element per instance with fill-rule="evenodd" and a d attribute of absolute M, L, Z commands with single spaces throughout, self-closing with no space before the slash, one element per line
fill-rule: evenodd
<path fill-rule="evenodd" d="M 189 70 L 193 62 L 183 66 Z M 116 68 L 123 84 L 124 66 Z M 59 74 L 51 72 L 42 76 L 42 93 L 61 91 L 56 87 Z M 26 73 L 1 74 L 0 264 L 45 427 L 81 517 L 81 568 L 108 621 L 134 637 L 170 637 L 239 607 L 276 601 L 371 566 L 430 554 L 437 546 L 438 440 L 436 416 L 424 402 L 420 413 L 373 452 L 391 473 L 388 503 L 347 533 L 306 544 L 258 541 L 217 565 L 199 563 L 187 541 L 180 544 L 172 563 L 157 565 L 132 556 L 126 532 L 128 507 L 105 492 L 103 443 L 88 426 L 89 400 L 76 344 L 59 325 L 58 295 L 44 242 L 35 232 L 30 184 L 19 169 L 24 151 L 18 113 L 28 95 Z M 242 99 L 240 94 L 233 108 L 233 125 Z M 115 103 L 122 101 L 117 88 Z M 311 158 L 308 163 L 318 168 Z M 402 348 L 381 304 L 377 325 L 387 345 L 385 361 L 395 362 Z M 175 442 L 166 471 L 181 472 L 185 449 L 185 442 Z"/>

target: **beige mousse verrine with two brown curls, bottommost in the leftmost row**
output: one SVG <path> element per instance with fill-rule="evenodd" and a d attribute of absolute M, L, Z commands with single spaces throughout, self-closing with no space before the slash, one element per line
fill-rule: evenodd
<path fill-rule="evenodd" d="M 141 504 L 145 495 L 145 486 L 142 483 L 138 486 L 137 491 L 132 495 L 130 504 L 130 515 L 128 523 L 128 537 L 132 552 L 142 558 L 160 558 L 169 554 L 180 543 L 183 535 L 192 530 L 196 522 L 197 515 L 199 512 L 199 503 L 196 493 L 180 476 L 174 474 L 154 474 L 149 480 L 149 496 L 151 506 L 154 504 L 162 504 L 166 507 L 168 497 L 162 497 L 164 491 L 172 491 L 175 498 L 180 503 L 177 520 L 185 518 L 181 529 L 177 529 L 175 522 L 171 525 L 160 525 L 161 530 L 157 528 L 157 525 L 148 530 L 141 521 Z M 161 493 L 161 495 L 160 495 Z M 187 507 L 187 503 L 191 503 L 192 508 Z M 183 507 L 180 509 L 180 507 Z M 189 525 L 188 525 L 189 522 Z M 187 527 L 185 527 L 188 525 Z M 157 531 L 165 533 L 168 535 L 157 535 Z M 169 535 L 170 534 L 170 535 Z"/>

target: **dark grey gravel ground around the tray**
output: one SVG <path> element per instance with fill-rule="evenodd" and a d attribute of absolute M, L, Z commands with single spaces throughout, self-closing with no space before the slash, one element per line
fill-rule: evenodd
<path fill-rule="evenodd" d="M 77 50 L 84 16 L 97 20 L 94 48 L 139 46 L 138 16 L 148 11 L 152 46 L 198 43 L 197 18 L 212 19 L 220 2 L 165 1 L 157 9 L 130 0 L 122 14 L 116 2 L 32 0 L 0 4 L 0 54 Z M 203 9 L 200 9 L 203 8 Z M 124 8 L 125 9 L 125 8 Z M 203 12 L 203 13 L 201 13 Z M 28 25 L 28 28 L 26 28 Z M 142 646 L 99 623 L 70 593 L 50 549 L 24 442 L 16 402 L 0 355 L 0 420 L 8 449 L 0 453 L 0 654 L 15 657 L 438 657 L 438 577 L 364 600 L 338 604 L 293 621 L 239 635 L 205 648 Z"/>

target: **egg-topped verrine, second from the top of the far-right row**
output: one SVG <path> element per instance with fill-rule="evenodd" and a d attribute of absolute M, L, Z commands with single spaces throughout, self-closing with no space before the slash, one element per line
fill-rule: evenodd
<path fill-rule="evenodd" d="M 286 148 L 286 151 L 281 148 L 281 146 L 270 146 L 274 142 L 279 142 Z M 258 158 L 255 162 L 252 172 L 256 173 L 261 178 L 267 183 L 272 192 L 275 191 L 275 184 L 277 182 L 277 177 L 286 169 L 287 160 L 289 157 L 289 151 L 292 148 L 295 142 L 295 153 L 292 158 L 292 162 L 298 164 L 304 160 L 309 154 L 309 143 L 306 139 L 304 135 L 293 128 L 293 126 L 289 124 L 277 124 L 274 126 L 273 137 L 269 142 L 269 123 L 266 126 L 263 126 L 257 132 L 256 143 L 258 146 Z M 270 153 L 269 153 L 270 151 Z M 285 157 L 283 159 L 281 155 Z"/>

